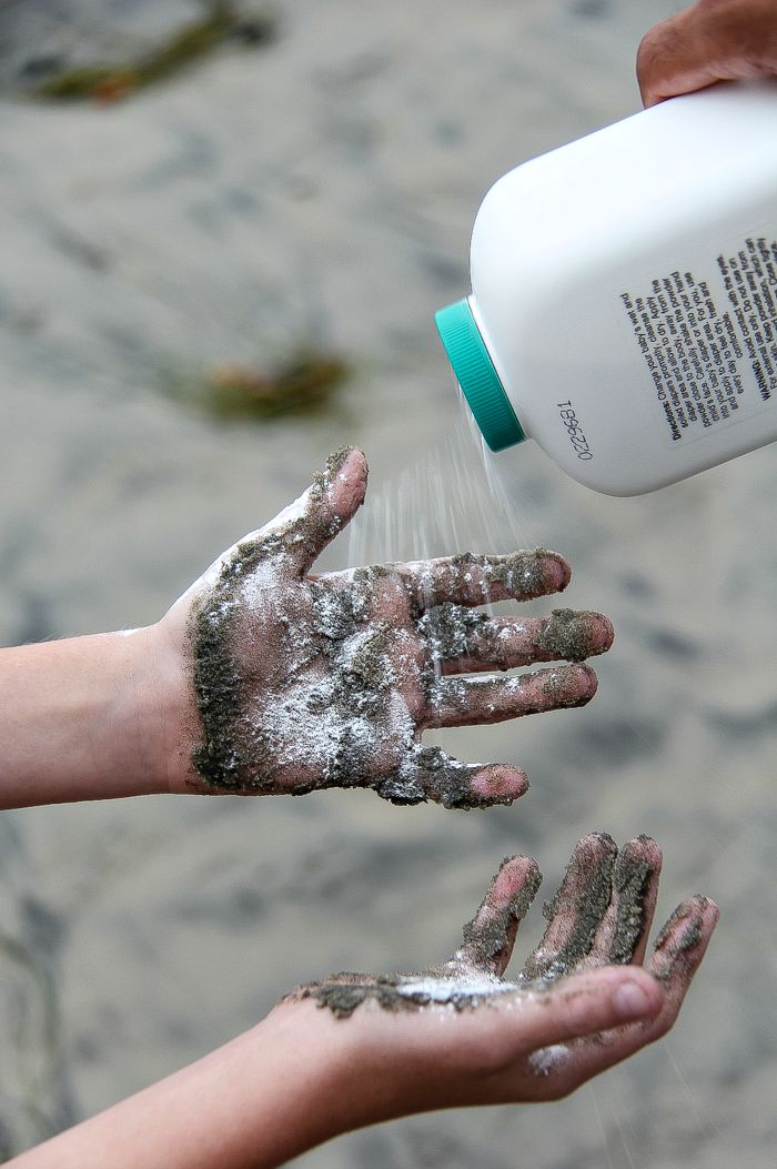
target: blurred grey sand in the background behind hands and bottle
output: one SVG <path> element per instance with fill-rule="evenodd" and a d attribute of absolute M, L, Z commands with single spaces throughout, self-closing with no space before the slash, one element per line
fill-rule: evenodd
<path fill-rule="evenodd" d="M 54 108 L 20 91 L 47 54 L 124 51 L 195 6 L 0 4 L 1 642 L 154 621 L 344 441 L 367 450 L 375 500 L 430 451 L 444 464 L 456 406 L 432 313 L 466 291 L 480 198 L 637 110 L 639 37 L 677 7 L 279 2 L 266 48 L 227 47 L 126 103 Z M 332 415 L 216 424 L 161 392 L 299 343 L 355 368 Z M 568 555 L 567 602 L 618 632 L 587 710 L 440 736 L 527 768 L 512 809 L 328 793 L 4 814 L 4 1155 L 196 1058 L 297 982 L 438 960 L 505 853 L 535 855 L 549 891 L 604 828 L 662 845 L 664 916 L 695 891 L 722 908 L 672 1036 L 568 1101 L 415 1118 L 294 1164 L 771 1163 L 776 461 L 768 448 L 613 500 L 530 445 L 511 457 L 514 512 L 497 526 Z M 360 548 L 418 551 L 398 524 L 360 523 Z M 348 552 L 344 538 L 327 563 Z"/>

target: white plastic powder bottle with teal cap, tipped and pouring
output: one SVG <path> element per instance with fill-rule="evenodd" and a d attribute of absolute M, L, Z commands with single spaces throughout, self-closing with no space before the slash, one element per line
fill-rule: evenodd
<path fill-rule="evenodd" d="M 673 98 L 501 178 L 437 313 L 492 450 L 653 491 L 777 438 L 777 82 Z"/>

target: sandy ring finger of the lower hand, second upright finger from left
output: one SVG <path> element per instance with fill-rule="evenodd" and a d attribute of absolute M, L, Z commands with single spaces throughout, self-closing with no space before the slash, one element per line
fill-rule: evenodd
<path fill-rule="evenodd" d="M 523 967 L 525 977 L 559 978 L 588 957 L 610 906 L 617 855 L 606 832 L 591 832 L 577 843 L 563 881 L 542 911 L 548 928 Z"/>

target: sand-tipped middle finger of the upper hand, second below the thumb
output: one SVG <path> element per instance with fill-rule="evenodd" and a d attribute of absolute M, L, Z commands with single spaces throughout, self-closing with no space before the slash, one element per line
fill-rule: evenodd
<path fill-rule="evenodd" d="M 612 645 L 601 613 L 554 609 L 549 617 L 488 617 L 459 604 L 439 604 L 417 622 L 443 673 L 512 670 L 535 662 L 583 662 Z"/>

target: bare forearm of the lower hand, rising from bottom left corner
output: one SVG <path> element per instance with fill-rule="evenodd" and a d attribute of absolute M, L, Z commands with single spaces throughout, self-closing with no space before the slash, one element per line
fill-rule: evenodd
<path fill-rule="evenodd" d="M 354 1035 L 352 1025 L 312 1003 L 273 1011 L 226 1046 L 12 1164 L 271 1169 L 372 1119 Z"/>

